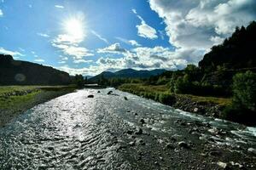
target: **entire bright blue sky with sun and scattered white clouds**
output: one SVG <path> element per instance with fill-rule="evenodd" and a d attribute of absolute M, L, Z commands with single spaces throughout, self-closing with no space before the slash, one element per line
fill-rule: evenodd
<path fill-rule="evenodd" d="M 197 64 L 254 0 L 0 0 L 0 53 L 71 74 Z"/>

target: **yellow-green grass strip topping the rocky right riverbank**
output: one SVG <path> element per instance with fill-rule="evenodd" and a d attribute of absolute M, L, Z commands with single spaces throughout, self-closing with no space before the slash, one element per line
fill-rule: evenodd
<path fill-rule="evenodd" d="M 146 97 L 148 99 L 154 99 L 160 101 L 159 96 L 176 96 L 180 98 L 189 98 L 194 102 L 214 105 L 226 106 L 231 104 L 229 98 L 217 98 L 209 96 L 196 96 L 191 94 L 171 94 L 169 88 L 166 85 L 148 85 L 143 83 L 126 83 L 119 86 L 119 90 L 129 92 L 131 94 L 137 94 L 139 96 Z M 161 102 L 161 101 L 160 101 Z M 165 102 L 161 102 L 165 103 Z"/>

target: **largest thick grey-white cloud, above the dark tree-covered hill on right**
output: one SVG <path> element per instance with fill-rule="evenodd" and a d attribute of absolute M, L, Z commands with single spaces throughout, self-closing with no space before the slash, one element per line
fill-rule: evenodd
<path fill-rule="evenodd" d="M 177 48 L 211 48 L 229 37 L 236 26 L 256 19 L 254 0 L 149 0 L 150 8 L 166 23 L 169 42 Z"/>

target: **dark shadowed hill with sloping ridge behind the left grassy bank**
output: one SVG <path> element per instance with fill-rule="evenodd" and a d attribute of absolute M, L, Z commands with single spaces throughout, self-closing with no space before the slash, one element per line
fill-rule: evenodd
<path fill-rule="evenodd" d="M 0 54 L 0 85 L 64 85 L 70 82 L 67 72 Z"/>

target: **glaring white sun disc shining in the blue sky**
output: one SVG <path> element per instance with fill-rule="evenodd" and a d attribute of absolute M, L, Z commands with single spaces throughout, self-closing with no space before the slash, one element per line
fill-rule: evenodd
<path fill-rule="evenodd" d="M 66 20 L 64 23 L 65 31 L 70 37 L 83 38 L 84 37 L 84 22 L 77 18 Z"/>

